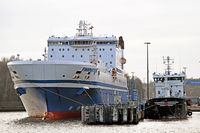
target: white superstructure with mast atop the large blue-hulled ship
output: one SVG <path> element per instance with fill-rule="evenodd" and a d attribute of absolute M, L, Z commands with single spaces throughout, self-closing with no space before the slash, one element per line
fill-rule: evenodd
<path fill-rule="evenodd" d="M 122 70 L 123 49 L 115 36 L 94 37 L 92 32 L 88 33 L 85 21 L 80 21 L 77 30 L 78 33 L 73 37 L 49 37 L 49 61 L 91 62 L 95 59 L 97 64 L 103 64 L 106 68 L 115 67 Z"/>

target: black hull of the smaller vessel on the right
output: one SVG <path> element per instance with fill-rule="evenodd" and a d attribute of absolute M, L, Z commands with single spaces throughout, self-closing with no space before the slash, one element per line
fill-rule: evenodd
<path fill-rule="evenodd" d="M 145 118 L 148 119 L 185 119 L 187 104 L 184 98 L 153 98 L 146 102 Z"/>

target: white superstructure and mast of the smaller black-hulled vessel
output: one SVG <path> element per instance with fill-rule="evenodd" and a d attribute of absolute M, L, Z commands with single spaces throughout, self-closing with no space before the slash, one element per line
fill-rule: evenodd
<path fill-rule="evenodd" d="M 162 97 L 185 97 L 184 81 L 185 72 L 172 73 L 171 65 L 174 63 L 168 56 L 163 59 L 163 63 L 167 66 L 165 73 L 153 74 L 155 86 L 155 98 Z"/>

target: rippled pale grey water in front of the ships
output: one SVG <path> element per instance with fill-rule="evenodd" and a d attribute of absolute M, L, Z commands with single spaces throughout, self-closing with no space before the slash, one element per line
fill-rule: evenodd
<path fill-rule="evenodd" d="M 42 121 L 26 112 L 0 112 L 0 133 L 200 133 L 200 112 L 186 120 L 144 120 L 138 125 L 84 125 L 80 120 Z"/>

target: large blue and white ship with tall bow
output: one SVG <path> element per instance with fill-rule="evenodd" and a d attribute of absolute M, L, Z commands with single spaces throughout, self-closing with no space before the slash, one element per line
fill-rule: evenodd
<path fill-rule="evenodd" d="M 93 28 L 81 20 L 76 35 L 48 38 L 44 59 L 7 64 L 29 117 L 80 118 L 83 105 L 127 103 L 123 37 Z"/>

